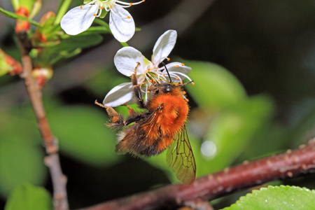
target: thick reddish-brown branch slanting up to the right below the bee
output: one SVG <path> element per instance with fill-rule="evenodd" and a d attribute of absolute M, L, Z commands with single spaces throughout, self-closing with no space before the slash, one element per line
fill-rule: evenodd
<path fill-rule="evenodd" d="M 222 172 L 200 177 L 190 186 L 183 184 L 166 186 L 81 210 L 179 207 L 196 200 L 213 200 L 235 190 L 310 172 L 315 172 L 315 139 L 295 151 L 288 150 L 279 155 L 244 162 Z"/>

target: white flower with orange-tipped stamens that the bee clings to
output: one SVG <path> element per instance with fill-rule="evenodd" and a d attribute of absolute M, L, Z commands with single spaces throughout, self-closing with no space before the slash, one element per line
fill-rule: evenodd
<path fill-rule="evenodd" d="M 146 59 L 144 55 L 132 47 L 125 47 L 118 50 L 115 55 L 114 62 L 116 68 L 125 76 L 132 76 L 134 69 L 137 66 L 138 84 L 141 85 L 143 92 L 146 92 L 149 85 L 157 80 L 158 82 L 168 81 L 169 77 L 165 70 L 165 66 L 159 67 L 159 64 L 167 58 L 173 50 L 176 43 L 177 33 L 174 30 L 168 30 L 155 43 L 153 48 L 152 62 Z M 138 64 L 139 63 L 139 64 Z M 186 76 L 191 71 L 191 68 L 180 62 L 166 64 L 169 76 L 172 82 L 183 83 L 184 78 L 191 79 Z M 136 99 L 132 93 L 132 83 L 122 83 L 113 87 L 106 95 L 103 104 L 105 106 L 120 106 L 122 104 L 133 104 Z"/>

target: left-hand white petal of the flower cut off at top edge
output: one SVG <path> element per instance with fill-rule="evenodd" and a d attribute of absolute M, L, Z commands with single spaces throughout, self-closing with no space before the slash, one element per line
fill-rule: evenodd
<path fill-rule="evenodd" d="M 77 6 L 69 10 L 62 20 L 60 26 L 66 34 L 76 35 L 86 31 L 95 19 L 94 14 L 97 13 L 99 6 L 97 4 L 86 4 L 80 8 Z"/>

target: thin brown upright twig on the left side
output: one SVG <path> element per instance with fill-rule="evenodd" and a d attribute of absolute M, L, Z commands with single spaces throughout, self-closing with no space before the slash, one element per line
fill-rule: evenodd
<path fill-rule="evenodd" d="M 24 37 L 25 36 L 21 37 L 20 34 L 18 34 L 20 48 L 22 51 L 22 73 L 20 76 L 25 80 L 25 86 L 27 87 L 27 92 L 29 94 L 29 98 L 31 99 L 31 104 L 37 118 L 38 129 L 41 132 L 46 153 L 48 154 L 48 156 L 45 158 L 45 164 L 49 167 L 50 176 L 52 177 L 55 209 L 65 210 L 69 209 L 66 198 L 66 178 L 64 174 L 62 174 L 60 167 L 59 155 L 57 153 L 57 139 L 53 137 L 48 120 L 46 118 L 43 100 L 41 97 L 41 88 L 36 85 L 36 81 L 31 75 L 32 64 L 31 58 L 28 55 L 29 45 L 27 45 L 27 48 L 25 47 L 25 43 L 28 42 L 25 41 Z"/>

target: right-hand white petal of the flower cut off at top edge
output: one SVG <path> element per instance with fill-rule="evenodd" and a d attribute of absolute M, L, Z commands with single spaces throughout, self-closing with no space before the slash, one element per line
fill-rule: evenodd
<path fill-rule="evenodd" d="M 109 28 L 113 36 L 120 42 L 129 41 L 134 36 L 136 29 L 132 15 L 123 7 L 117 5 L 113 5 L 113 8 L 111 8 Z"/>

